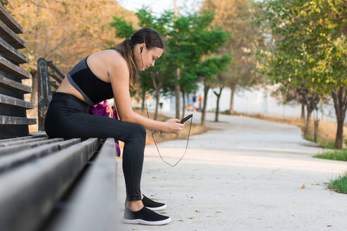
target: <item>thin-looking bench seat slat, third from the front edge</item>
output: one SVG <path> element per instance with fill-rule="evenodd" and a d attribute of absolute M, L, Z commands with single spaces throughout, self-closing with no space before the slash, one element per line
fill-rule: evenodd
<path fill-rule="evenodd" d="M 18 151 L 16 154 L 2 156 L 0 158 L 0 173 L 12 170 L 20 165 L 23 165 L 32 159 L 47 156 L 61 149 L 66 149 L 68 146 L 77 144 L 80 139 L 68 139 L 65 141 L 54 142 L 53 144 L 44 144 L 35 146 L 29 150 Z"/>

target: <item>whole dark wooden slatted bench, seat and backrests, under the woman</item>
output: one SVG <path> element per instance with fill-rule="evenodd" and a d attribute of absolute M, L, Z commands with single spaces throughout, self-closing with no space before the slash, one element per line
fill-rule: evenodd
<path fill-rule="evenodd" d="M 39 132 L 29 133 L 18 49 L 23 28 L 0 5 L 0 230 L 117 230 L 114 139 L 50 139 L 44 117 L 65 75 L 39 58 Z M 52 81 L 50 77 L 55 81 Z"/>

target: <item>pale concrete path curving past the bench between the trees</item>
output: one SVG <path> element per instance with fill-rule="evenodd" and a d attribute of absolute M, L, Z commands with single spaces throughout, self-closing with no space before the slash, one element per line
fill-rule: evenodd
<path fill-rule="evenodd" d="M 302 139 L 293 125 L 238 116 L 212 120 L 214 114 L 207 114 L 207 125 L 217 130 L 190 137 L 174 168 L 155 146 L 146 146 L 142 193 L 166 203 L 162 213 L 172 220 L 162 226 L 122 225 L 122 231 L 347 230 L 347 194 L 327 189 L 347 162 L 312 158 L 322 149 Z M 184 140 L 159 144 L 169 163 L 184 149 Z M 118 159 L 121 218 L 125 198 Z"/>

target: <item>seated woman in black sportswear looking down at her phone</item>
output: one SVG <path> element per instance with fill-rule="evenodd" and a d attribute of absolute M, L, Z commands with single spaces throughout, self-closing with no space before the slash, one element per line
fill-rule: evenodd
<path fill-rule="evenodd" d="M 178 119 L 151 120 L 131 108 L 137 70 L 154 66 L 164 44 L 159 33 L 142 28 L 115 50 L 99 51 L 84 58 L 68 73 L 51 99 L 45 120 L 49 137 L 114 137 L 124 142 L 123 173 L 126 181 L 124 223 L 164 225 L 171 218 L 154 211 L 165 204 L 141 194 L 140 180 L 146 131 L 178 133 L 184 125 Z M 89 107 L 114 97 L 120 120 L 88 113 Z"/>

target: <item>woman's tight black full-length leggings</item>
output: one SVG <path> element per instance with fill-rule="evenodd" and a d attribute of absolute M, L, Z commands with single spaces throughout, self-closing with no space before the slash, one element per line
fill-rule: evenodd
<path fill-rule="evenodd" d="M 141 200 L 141 174 L 146 130 L 142 125 L 88 113 L 89 106 L 71 94 L 56 92 L 51 99 L 44 123 L 49 137 L 108 138 L 124 142 L 123 173 L 128 201 Z"/>

